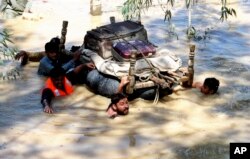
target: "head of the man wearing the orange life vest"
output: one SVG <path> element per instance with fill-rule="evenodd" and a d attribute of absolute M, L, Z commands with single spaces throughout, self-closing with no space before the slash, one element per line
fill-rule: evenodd
<path fill-rule="evenodd" d="M 63 83 L 64 83 L 65 71 L 62 67 L 60 66 L 54 67 L 50 71 L 49 77 L 51 77 L 52 82 L 56 88 L 64 89 Z"/>

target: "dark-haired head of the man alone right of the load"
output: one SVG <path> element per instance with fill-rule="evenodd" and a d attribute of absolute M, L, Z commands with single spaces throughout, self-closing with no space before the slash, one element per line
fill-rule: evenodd
<path fill-rule="evenodd" d="M 206 78 L 201 87 L 201 92 L 204 94 L 214 94 L 217 92 L 220 81 L 214 77 Z"/>

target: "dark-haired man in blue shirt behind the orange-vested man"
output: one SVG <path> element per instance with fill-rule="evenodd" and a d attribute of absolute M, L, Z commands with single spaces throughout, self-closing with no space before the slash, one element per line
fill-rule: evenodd
<path fill-rule="evenodd" d="M 72 84 L 84 83 L 87 72 L 94 69 L 95 65 L 92 62 L 81 63 L 79 60 L 80 51 L 76 50 L 74 53 L 59 52 L 59 44 L 59 38 L 52 38 L 45 44 L 45 53 L 20 51 L 16 55 L 16 59 L 21 59 L 22 64 L 27 63 L 28 59 L 40 60 L 38 74 L 42 76 L 48 76 L 55 66 L 61 66 Z"/>

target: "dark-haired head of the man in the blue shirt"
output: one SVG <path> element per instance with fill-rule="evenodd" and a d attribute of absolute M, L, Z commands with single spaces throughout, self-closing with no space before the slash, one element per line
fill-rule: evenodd
<path fill-rule="evenodd" d="M 59 53 L 59 45 L 54 42 L 47 42 L 45 44 L 45 52 L 51 60 L 57 60 L 58 59 L 58 53 Z"/>

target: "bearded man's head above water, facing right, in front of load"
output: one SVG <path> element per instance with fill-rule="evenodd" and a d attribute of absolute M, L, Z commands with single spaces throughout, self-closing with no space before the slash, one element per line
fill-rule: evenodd
<path fill-rule="evenodd" d="M 111 103 L 107 109 L 110 117 L 117 115 L 127 115 L 129 113 L 129 104 L 127 96 L 123 93 L 117 93 L 111 97 Z"/>

